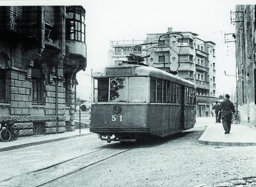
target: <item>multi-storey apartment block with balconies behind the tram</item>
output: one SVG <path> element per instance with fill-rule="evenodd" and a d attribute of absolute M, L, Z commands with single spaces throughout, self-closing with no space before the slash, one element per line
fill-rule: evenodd
<path fill-rule="evenodd" d="M 172 32 L 172 29 L 168 28 L 168 32 Z M 181 41 L 181 35 L 169 37 L 162 36 L 165 33 L 147 34 L 144 40 L 147 45 L 142 46 L 140 55 L 150 55 L 145 60 L 150 67 L 178 72 L 179 77 L 194 82 L 197 87 L 197 117 L 205 117 L 206 111 L 210 115 L 215 101 L 219 100 L 215 97 L 215 43 L 199 39 L 196 33 L 175 33 L 183 35 L 182 42 L 177 42 Z M 115 43 L 116 41 L 112 42 L 113 49 L 117 47 Z M 117 64 L 112 54 L 109 53 L 109 64 Z M 120 60 L 127 60 L 124 57 Z"/>

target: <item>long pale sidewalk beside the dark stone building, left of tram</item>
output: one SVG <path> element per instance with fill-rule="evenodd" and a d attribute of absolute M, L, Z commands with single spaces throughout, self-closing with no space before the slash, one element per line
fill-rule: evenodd
<path fill-rule="evenodd" d="M 39 145 L 48 142 L 55 142 L 60 140 L 66 140 L 70 138 L 75 138 L 79 136 L 87 136 L 93 134 L 89 132 L 89 128 L 81 129 L 81 134 L 79 134 L 79 129 L 75 131 L 68 131 L 59 134 L 46 134 L 46 135 L 35 135 L 35 136 L 24 136 L 18 137 L 17 140 L 12 140 L 10 142 L 1 142 L 0 141 L 0 151 L 8 151 L 11 149 L 18 149 L 22 147 L 28 147 L 32 145 Z"/>

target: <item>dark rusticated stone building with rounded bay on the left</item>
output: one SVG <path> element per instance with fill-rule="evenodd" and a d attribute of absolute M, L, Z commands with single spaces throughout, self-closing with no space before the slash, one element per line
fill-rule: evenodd
<path fill-rule="evenodd" d="M 15 122 L 21 136 L 74 130 L 85 9 L 2 6 L 0 15 L 0 123 Z"/>

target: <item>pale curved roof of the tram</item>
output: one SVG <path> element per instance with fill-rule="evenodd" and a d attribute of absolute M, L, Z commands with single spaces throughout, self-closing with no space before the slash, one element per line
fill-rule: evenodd
<path fill-rule="evenodd" d="M 117 69 L 118 68 L 118 69 Z M 119 68 L 123 69 L 129 69 L 130 71 L 118 71 Z M 110 73 L 109 70 L 113 70 L 115 73 Z M 148 66 L 142 66 L 142 65 L 112 65 L 112 66 L 106 66 L 105 67 L 105 73 L 93 73 L 94 78 L 102 78 L 102 77 L 120 77 L 120 76 L 149 76 L 154 78 L 162 78 L 165 80 L 173 80 L 177 83 L 180 83 L 185 86 L 194 87 L 193 82 L 190 82 L 188 80 L 185 80 L 183 78 L 180 78 L 178 76 L 175 76 L 171 73 L 168 73 L 166 71 L 163 71 L 161 69 L 157 69 L 154 67 L 148 67 Z"/>

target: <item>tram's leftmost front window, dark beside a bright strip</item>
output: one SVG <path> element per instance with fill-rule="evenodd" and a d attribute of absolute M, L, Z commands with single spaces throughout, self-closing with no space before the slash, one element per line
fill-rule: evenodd
<path fill-rule="evenodd" d="M 94 102 L 108 101 L 108 82 L 109 78 L 94 79 Z"/>

